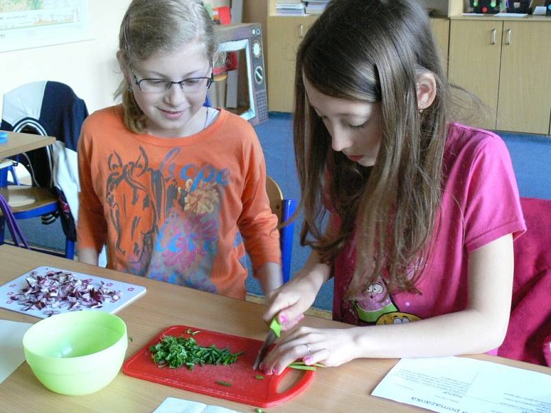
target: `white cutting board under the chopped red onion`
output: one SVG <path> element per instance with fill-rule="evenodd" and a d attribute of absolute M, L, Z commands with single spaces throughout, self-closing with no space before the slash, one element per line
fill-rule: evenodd
<path fill-rule="evenodd" d="M 108 279 L 103 277 L 95 277 L 94 275 L 88 275 L 83 273 L 75 273 L 74 271 L 64 270 L 61 268 L 56 267 L 50 267 L 50 266 L 41 266 L 38 268 L 34 268 L 34 270 L 29 271 L 28 273 L 25 273 L 21 275 L 20 277 L 17 277 L 16 279 L 13 279 L 10 282 L 7 282 L 3 286 L 0 287 L 0 308 L 6 308 L 8 310 L 17 311 L 17 313 L 23 313 L 26 315 L 32 315 L 33 317 L 39 317 L 39 318 L 46 318 L 48 317 L 47 314 L 43 314 L 44 310 L 51 310 L 49 307 L 45 307 L 42 310 L 23 310 L 25 308 L 24 305 L 20 305 L 17 303 L 17 300 L 12 300 L 11 297 L 21 293 L 21 289 L 23 287 L 27 286 L 26 278 L 30 275 L 30 273 L 37 271 L 41 275 L 45 275 L 47 271 L 65 271 L 68 273 L 72 273 L 75 277 L 80 279 L 90 279 L 91 284 L 95 287 L 101 286 L 101 282 L 103 281 L 105 283 L 105 286 L 107 288 L 110 288 L 111 290 L 120 290 L 121 291 L 121 298 L 117 301 L 111 302 L 110 299 L 107 299 L 103 301 L 103 307 L 101 308 L 88 308 L 85 306 L 81 306 L 80 310 L 93 310 L 93 311 L 103 311 L 105 313 L 111 313 L 114 314 L 118 312 L 118 310 L 121 310 L 121 308 L 127 306 L 128 304 L 132 303 L 132 301 L 138 299 L 142 295 L 145 294 L 145 287 L 138 286 L 136 284 L 129 284 L 126 282 L 119 282 L 115 281 L 114 279 Z M 55 308 L 55 310 L 58 310 L 59 313 L 69 313 L 71 310 L 68 310 L 67 307 L 61 307 L 61 308 Z M 78 310 L 73 310 L 78 311 Z"/>

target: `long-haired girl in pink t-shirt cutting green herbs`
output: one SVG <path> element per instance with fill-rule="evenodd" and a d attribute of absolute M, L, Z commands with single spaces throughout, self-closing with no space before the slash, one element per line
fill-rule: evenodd
<path fill-rule="evenodd" d="M 300 44 L 295 107 L 313 252 L 264 320 L 290 330 L 333 277 L 333 319 L 353 326 L 295 328 L 264 372 L 497 348 L 526 230 L 517 183 L 499 136 L 452 119 L 420 2 L 331 1 Z"/>

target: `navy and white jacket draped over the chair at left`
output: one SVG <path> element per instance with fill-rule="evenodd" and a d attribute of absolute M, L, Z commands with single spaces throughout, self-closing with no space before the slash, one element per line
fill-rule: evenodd
<path fill-rule="evenodd" d="M 84 100 L 64 83 L 26 83 L 3 98 L 0 129 L 56 137 L 54 145 L 28 151 L 19 162 L 30 171 L 33 184 L 58 193 L 63 232 L 71 240 L 76 240 L 74 221 L 79 207 L 76 147 L 87 116 Z"/>

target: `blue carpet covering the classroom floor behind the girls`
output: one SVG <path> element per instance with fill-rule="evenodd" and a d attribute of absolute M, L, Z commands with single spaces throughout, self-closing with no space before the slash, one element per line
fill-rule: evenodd
<path fill-rule="evenodd" d="M 264 150 L 268 175 L 280 184 L 286 198 L 299 200 L 300 189 L 293 156 L 291 115 L 271 112 L 269 120 L 255 129 Z M 506 142 L 510 151 L 521 196 L 551 199 L 551 185 L 548 183 L 551 177 L 551 137 L 501 131 L 497 133 Z M 22 220 L 20 224 L 30 243 L 59 251 L 65 248 L 65 237 L 59 220 L 48 226 L 41 224 L 39 218 Z M 301 226 L 302 218 L 299 217 L 295 222 L 291 274 L 302 267 L 310 253 L 310 248 L 304 248 L 299 244 Z M 6 235 L 9 238 L 7 233 Z M 260 285 L 250 276 L 247 279 L 247 290 L 254 294 L 261 293 Z M 320 290 L 314 306 L 331 310 L 332 302 L 333 282 L 330 280 Z"/>

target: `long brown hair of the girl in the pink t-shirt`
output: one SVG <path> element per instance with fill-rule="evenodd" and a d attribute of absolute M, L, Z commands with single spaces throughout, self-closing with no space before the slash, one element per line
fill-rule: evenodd
<path fill-rule="evenodd" d="M 437 93 L 421 114 L 416 81 L 423 72 L 435 76 Z M 331 149 L 303 75 L 327 96 L 380 103 L 382 142 L 373 167 Z M 416 290 L 441 198 L 448 89 L 428 15 L 416 0 L 333 0 L 300 44 L 293 129 L 301 244 L 331 264 L 357 237 L 349 294 L 380 275 L 389 290 Z M 341 220 L 335 233 L 323 231 L 324 198 Z M 371 264 L 373 272 L 365 271 Z"/>

